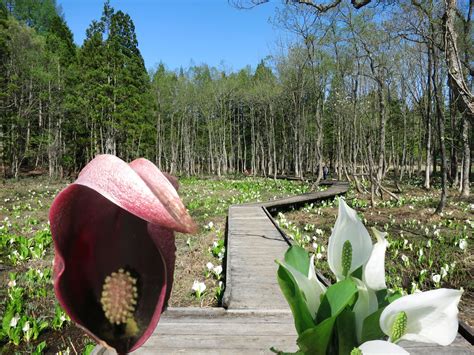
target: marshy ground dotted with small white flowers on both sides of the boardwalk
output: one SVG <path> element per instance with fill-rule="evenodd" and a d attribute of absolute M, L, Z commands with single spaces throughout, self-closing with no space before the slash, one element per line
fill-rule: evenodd
<path fill-rule="evenodd" d="M 53 248 L 47 213 L 67 183 L 41 178 L 1 183 L 2 354 L 88 353 L 94 347 L 57 305 L 51 284 Z M 266 201 L 310 189 L 306 183 L 261 178 L 183 178 L 180 183 L 180 195 L 199 231 L 195 235 L 176 235 L 175 283 L 170 299 L 170 305 L 176 307 L 219 304 L 224 287 L 220 266 L 229 205 Z M 403 186 L 398 202 L 379 201 L 375 208 L 369 207 L 367 195 L 354 190 L 346 199 L 367 227 L 389 233 L 386 269 L 390 288 L 413 292 L 463 287 L 461 318 L 474 325 L 474 200 L 460 199 L 456 191 L 450 190 L 445 212 L 434 215 L 439 191 L 425 191 L 419 185 L 419 181 L 411 181 Z M 336 203 L 329 202 L 278 216 L 288 234 L 319 257 L 317 267 L 328 277 L 326 247 L 336 214 Z M 199 298 L 191 289 L 194 281 L 206 285 Z M 16 315 L 19 319 L 13 328 L 10 324 Z M 22 330 L 26 322 L 29 332 Z"/>

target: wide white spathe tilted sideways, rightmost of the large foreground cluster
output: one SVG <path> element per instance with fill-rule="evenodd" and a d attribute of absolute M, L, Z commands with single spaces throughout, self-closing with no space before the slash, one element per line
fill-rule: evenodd
<path fill-rule="evenodd" d="M 399 339 L 449 345 L 458 332 L 458 303 L 462 291 L 440 288 L 401 297 L 380 315 L 380 328 L 391 335 L 395 318 L 407 315 L 405 334 Z"/>

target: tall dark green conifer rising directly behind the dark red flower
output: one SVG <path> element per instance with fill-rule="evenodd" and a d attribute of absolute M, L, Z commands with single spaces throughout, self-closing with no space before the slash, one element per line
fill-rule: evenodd
<path fill-rule="evenodd" d="M 152 98 L 129 15 L 105 3 L 102 18 L 87 30 L 79 70 L 83 80 L 78 84 L 78 104 L 88 108 L 88 121 L 103 132 L 99 152 L 125 159 L 144 155 L 142 142 L 150 145 L 153 139 Z M 96 147 L 91 155 L 98 153 Z"/>

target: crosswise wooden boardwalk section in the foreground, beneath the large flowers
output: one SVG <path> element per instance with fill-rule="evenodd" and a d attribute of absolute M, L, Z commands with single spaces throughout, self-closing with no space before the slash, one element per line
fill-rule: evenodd
<path fill-rule="evenodd" d="M 289 313 L 170 308 L 152 337 L 134 354 L 270 354 L 272 346 L 296 351 L 296 338 Z M 406 341 L 401 345 L 414 355 L 473 354 L 472 346 L 461 336 L 449 347 Z M 99 351 L 94 355 L 115 354 Z"/>

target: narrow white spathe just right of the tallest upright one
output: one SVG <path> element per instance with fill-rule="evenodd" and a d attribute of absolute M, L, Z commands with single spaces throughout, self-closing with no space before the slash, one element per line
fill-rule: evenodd
<path fill-rule="evenodd" d="M 385 236 L 387 233 L 380 232 L 373 227 L 372 232 L 377 238 L 377 243 L 374 244 L 372 254 L 370 254 L 370 258 L 364 266 L 362 279 L 367 287 L 379 291 L 387 288 L 385 284 L 385 251 L 388 246 Z"/>

